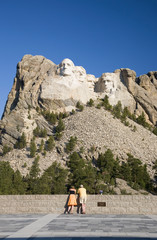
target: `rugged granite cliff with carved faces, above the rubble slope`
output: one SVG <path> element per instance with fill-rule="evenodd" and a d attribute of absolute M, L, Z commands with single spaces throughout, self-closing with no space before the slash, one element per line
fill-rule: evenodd
<path fill-rule="evenodd" d="M 0 121 L 0 144 L 14 144 L 20 135 L 17 128 L 25 129 L 29 135 L 37 124 L 44 124 L 37 107 L 54 112 L 71 111 L 78 101 L 86 104 L 89 99 L 97 100 L 105 95 L 111 105 L 121 101 L 132 113 L 144 112 L 147 120 L 156 124 L 157 72 L 136 77 L 133 70 L 121 68 L 96 78 L 67 58 L 56 65 L 43 56 L 25 55 L 17 65 Z M 33 127 L 27 116 L 30 108 L 36 123 Z"/>

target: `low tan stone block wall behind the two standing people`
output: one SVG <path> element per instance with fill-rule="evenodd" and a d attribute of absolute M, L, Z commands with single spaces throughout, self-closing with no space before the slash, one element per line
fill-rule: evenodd
<path fill-rule="evenodd" d="M 0 195 L 0 214 L 65 211 L 68 195 Z M 98 206 L 105 203 L 106 206 Z M 77 212 L 75 207 L 74 212 Z M 157 196 L 88 195 L 87 214 L 157 214 Z"/>

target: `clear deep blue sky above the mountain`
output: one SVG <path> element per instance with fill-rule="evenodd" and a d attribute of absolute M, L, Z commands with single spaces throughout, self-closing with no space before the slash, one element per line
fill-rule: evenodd
<path fill-rule="evenodd" d="M 101 76 L 157 70 L 157 0 L 0 0 L 0 116 L 25 54 Z"/>

